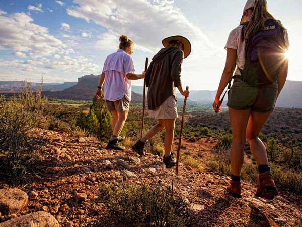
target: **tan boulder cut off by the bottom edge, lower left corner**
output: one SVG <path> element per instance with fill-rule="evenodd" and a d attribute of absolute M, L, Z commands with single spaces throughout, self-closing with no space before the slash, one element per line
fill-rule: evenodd
<path fill-rule="evenodd" d="M 50 214 L 39 211 L 0 223 L 0 227 L 59 227 L 58 221 Z"/>

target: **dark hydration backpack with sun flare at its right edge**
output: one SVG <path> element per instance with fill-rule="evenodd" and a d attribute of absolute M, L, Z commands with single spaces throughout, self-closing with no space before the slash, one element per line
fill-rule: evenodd
<path fill-rule="evenodd" d="M 236 77 L 252 86 L 276 82 L 284 62 L 284 48 L 283 29 L 277 21 L 267 20 L 263 31 L 246 40 L 244 70 L 240 69 L 241 76 Z"/>

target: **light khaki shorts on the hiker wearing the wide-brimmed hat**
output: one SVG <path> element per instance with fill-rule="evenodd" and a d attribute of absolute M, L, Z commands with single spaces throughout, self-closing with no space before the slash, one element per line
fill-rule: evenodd
<path fill-rule="evenodd" d="M 149 110 L 149 117 L 155 119 L 178 118 L 175 98 L 170 96 L 155 110 Z"/>

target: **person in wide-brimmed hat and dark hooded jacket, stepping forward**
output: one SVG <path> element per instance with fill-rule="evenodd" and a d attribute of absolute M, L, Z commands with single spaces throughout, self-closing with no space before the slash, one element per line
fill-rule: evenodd
<path fill-rule="evenodd" d="M 189 91 L 183 90 L 180 76 L 183 59 L 191 53 L 191 44 L 187 38 L 179 35 L 165 38 L 162 43 L 165 48 L 153 57 L 145 73 L 146 87 L 148 87 L 149 117 L 158 119 L 159 122 L 132 148 L 138 154 L 144 155 L 146 142 L 165 129 L 163 161 L 166 167 L 173 167 L 176 164 L 176 159 L 171 153 L 171 149 L 175 120 L 178 117 L 175 87 L 183 96 L 189 96 Z"/>

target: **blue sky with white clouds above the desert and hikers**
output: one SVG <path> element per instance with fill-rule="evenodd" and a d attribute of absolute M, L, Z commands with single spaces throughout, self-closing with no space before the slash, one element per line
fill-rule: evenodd
<path fill-rule="evenodd" d="M 245 0 L 0 0 L 0 81 L 63 83 L 102 72 L 106 56 L 125 34 L 135 43 L 136 73 L 161 41 L 187 37 L 191 55 L 182 84 L 215 90 L 225 63 L 224 45 L 239 25 Z M 288 31 L 288 80 L 302 80 L 302 4 L 268 0 L 270 12 Z M 134 81 L 142 86 L 143 82 Z"/>

